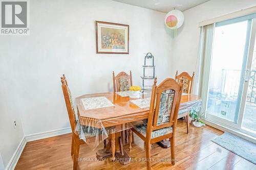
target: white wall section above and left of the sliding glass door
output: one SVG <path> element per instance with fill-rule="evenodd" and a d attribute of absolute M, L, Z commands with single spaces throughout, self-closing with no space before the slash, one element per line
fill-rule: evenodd
<path fill-rule="evenodd" d="M 211 0 L 194 8 L 184 11 L 184 24 L 178 29 L 178 35 L 172 43 L 172 76 L 176 70 L 197 71 L 200 28 L 198 23 L 249 8 L 256 5 L 255 0 Z M 196 72 L 196 76 L 198 72 Z M 194 84 L 194 93 L 197 92 L 197 77 Z"/>

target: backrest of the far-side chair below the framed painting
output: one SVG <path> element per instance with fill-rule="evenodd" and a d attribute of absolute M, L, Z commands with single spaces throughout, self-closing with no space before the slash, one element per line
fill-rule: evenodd
<path fill-rule="evenodd" d="M 132 85 L 133 85 L 132 71 L 130 71 L 130 75 L 122 71 L 122 72 L 119 72 L 117 76 L 115 76 L 115 72 L 113 71 L 114 92 L 127 91 Z"/>

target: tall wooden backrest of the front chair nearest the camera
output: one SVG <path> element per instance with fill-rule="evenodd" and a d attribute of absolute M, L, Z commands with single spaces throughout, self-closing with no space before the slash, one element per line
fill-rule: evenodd
<path fill-rule="evenodd" d="M 175 132 L 180 107 L 183 80 L 178 84 L 174 79 L 167 78 L 158 86 L 155 78 L 150 113 L 148 116 L 147 133 L 166 127 L 173 127 Z"/>

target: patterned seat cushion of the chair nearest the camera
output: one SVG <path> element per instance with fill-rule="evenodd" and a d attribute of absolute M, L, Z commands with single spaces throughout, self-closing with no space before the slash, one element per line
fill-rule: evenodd
<path fill-rule="evenodd" d="M 147 123 L 145 121 L 143 125 L 134 127 L 134 129 L 138 131 L 140 134 L 142 134 L 144 137 L 146 137 L 146 128 L 147 128 Z M 153 138 L 163 136 L 165 134 L 172 133 L 172 132 L 173 132 L 173 127 L 158 129 L 158 130 L 152 131 L 151 138 L 153 139 Z"/>

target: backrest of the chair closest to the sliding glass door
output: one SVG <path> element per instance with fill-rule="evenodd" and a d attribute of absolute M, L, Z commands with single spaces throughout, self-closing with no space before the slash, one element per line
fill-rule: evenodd
<path fill-rule="evenodd" d="M 193 72 L 192 77 L 187 72 L 182 72 L 180 75 L 178 75 L 178 70 L 176 71 L 175 80 L 179 83 L 180 80 L 183 78 L 183 93 L 191 93 L 194 76 L 195 71 Z"/>

